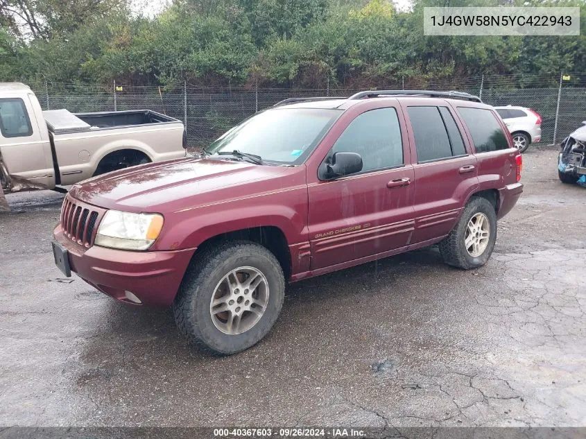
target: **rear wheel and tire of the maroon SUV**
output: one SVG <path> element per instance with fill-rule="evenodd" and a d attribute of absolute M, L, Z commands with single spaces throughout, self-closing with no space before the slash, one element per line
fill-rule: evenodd
<path fill-rule="evenodd" d="M 496 241 L 494 207 L 486 198 L 472 197 L 456 227 L 440 242 L 440 253 L 446 264 L 470 270 L 486 264 Z"/>

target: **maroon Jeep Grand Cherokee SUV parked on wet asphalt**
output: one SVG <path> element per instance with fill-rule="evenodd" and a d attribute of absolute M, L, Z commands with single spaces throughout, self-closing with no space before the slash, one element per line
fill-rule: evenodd
<path fill-rule="evenodd" d="M 439 243 L 488 260 L 522 193 L 500 117 L 456 92 L 288 99 L 201 157 L 76 184 L 55 263 L 130 304 L 173 307 L 191 341 L 232 354 L 277 320 L 295 282 Z"/>

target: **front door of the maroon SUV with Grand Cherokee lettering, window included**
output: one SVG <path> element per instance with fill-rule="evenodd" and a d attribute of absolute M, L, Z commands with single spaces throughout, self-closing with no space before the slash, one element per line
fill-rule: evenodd
<path fill-rule="evenodd" d="M 311 270 L 408 245 L 414 227 L 413 166 L 400 110 L 368 110 L 352 120 L 334 153 L 358 153 L 359 173 L 309 184 Z"/>

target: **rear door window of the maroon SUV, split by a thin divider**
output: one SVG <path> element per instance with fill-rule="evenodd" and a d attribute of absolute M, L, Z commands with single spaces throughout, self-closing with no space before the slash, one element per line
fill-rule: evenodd
<path fill-rule="evenodd" d="M 460 131 L 447 107 L 407 107 L 417 162 L 440 160 L 465 154 Z"/>

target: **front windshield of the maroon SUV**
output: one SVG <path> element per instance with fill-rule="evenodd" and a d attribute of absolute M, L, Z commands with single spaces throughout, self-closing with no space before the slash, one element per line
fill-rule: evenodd
<path fill-rule="evenodd" d="M 214 141 L 206 153 L 239 151 L 282 164 L 304 162 L 341 110 L 275 108 L 243 121 Z"/>

